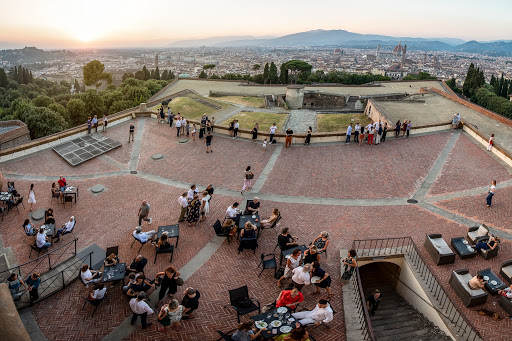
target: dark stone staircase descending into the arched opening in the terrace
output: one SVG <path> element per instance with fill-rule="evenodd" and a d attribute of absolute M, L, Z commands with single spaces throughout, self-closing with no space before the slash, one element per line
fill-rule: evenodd
<path fill-rule="evenodd" d="M 385 269 L 386 267 L 387 269 Z M 399 268 L 398 268 L 399 269 Z M 375 315 L 370 315 L 377 341 L 449 341 L 443 331 L 418 312 L 396 291 L 396 279 L 390 272 L 399 271 L 391 263 L 373 263 L 360 268 L 366 297 L 374 289 L 382 293 Z"/>

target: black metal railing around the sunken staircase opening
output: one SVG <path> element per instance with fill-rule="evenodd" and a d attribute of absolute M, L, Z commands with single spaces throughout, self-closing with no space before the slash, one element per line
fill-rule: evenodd
<path fill-rule="evenodd" d="M 438 304 L 438 307 L 432 307 L 451 323 L 457 337 L 460 340 L 466 341 L 482 340 L 475 326 L 453 303 L 450 296 L 446 294 L 439 279 L 430 270 L 416 246 L 416 243 L 414 243 L 411 237 L 354 240 L 352 248 L 356 250 L 358 257 L 403 255 L 404 259 L 414 268 L 418 276 L 421 277 L 424 284 L 430 291 L 431 297 L 433 297 L 435 302 Z M 357 277 L 359 279 L 359 271 L 357 271 Z M 358 284 L 361 288 L 361 299 L 364 302 L 365 298 L 362 292 L 362 285 L 360 282 Z M 371 328 L 371 322 L 367 311 L 365 317 L 368 319 L 367 324 Z"/>

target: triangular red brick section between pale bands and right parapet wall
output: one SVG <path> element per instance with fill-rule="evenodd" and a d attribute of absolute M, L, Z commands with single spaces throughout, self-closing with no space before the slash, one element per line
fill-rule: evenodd
<path fill-rule="evenodd" d="M 468 136 L 461 134 L 429 195 L 490 186 L 493 179 L 501 182 L 511 178 L 512 172 L 496 162 Z"/>

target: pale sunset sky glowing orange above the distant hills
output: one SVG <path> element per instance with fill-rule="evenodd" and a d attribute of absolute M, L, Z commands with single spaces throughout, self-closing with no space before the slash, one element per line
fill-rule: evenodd
<path fill-rule="evenodd" d="M 184 39 L 315 29 L 512 39 L 507 19 L 512 1 L 502 0 L 0 0 L 0 8 L 0 48 L 166 46 Z"/>

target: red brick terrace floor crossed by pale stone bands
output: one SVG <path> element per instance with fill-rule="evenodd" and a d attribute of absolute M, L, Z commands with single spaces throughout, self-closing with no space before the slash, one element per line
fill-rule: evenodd
<path fill-rule="evenodd" d="M 148 200 L 150 216 L 154 219 L 151 226 L 143 224 L 144 230 L 173 224 L 178 217 L 177 197 L 192 182 L 197 183 L 199 189 L 212 183 L 216 192 L 206 222 L 196 227 L 180 225 L 180 243 L 173 259 L 177 268 L 188 264 L 210 243 L 215 237 L 211 228 L 213 222 L 217 218 L 222 219 L 225 209 L 233 201 L 242 202 L 254 195 L 264 199 L 260 211 L 262 216 L 268 216 L 274 207 L 279 208 L 283 215 L 281 226 L 290 227 L 292 234 L 300 236 L 300 241 L 305 244 L 320 231 L 329 231 L 332 242 L 328 258 L 322 257 L 321 264 L 333 277 L 332 305 L 337 313 L 330 329 L 312 330 L 317 340 L 346 339 L 339 250 L 349 248 L 354 239 L 411 236 L 445 290 L 484 339 L 506 339 L 512 320 L 491 322 L 464 308 L 448 280 L 451 271 L 459 268 L 475 272 L 491 267 L 497 272 L 501 262 L 512 258 L 511 242 L 505 240 L 498 257 L 491 260 L 479 257 L 464 261 L 457 259 L 455 264 L 441 267 L 432 264 L 422 246 L 427 233 L 439 232 L 449 240 L 465 235 L 467 224 L 475 221 L 485 222 L 510 236 L 507 227 L 512 221 L 512 202 L 506 198 L 512 195 L 512 182 L 503 183 L 493 207 L 487 209 L 485 193 L 480 189 L 485 185 L 485 179 L 472 178 L 470 171 L 479 167 L 483 173 L 507 179 L 509 170 L 491 157 L 482 163 L 475 161 L 474 158 L 487 155 L 485 152 L 480 154 L 478 148 L 471 152 L 473 141 L 464 134 L 457 137 L 453 149 L 447 147 L 452 133 L 446 132 L 408 140 L 390 139 L 379 146 L 326 144 L 283 149 L 278 145 L 266 151 L 248 140 L 215 136 L 214 153 L 206 154 L 201 140 L 178 144 L 175 130 L 166 125 L 151 119 L 135 123 L 136 143 L 125 141 L 128 123 L 110 128 L 106 135 L 122 142 L 122 147 L 77 167 L 67 165 L 53 151 L 45 151 L 1 164 L 0 170 L 6 181 L 15 180 L 17 188 L 28 191 L 29 184 L 35 183 L 38 199 L 35 209 L 54 207 L 57 225 L 74 215 L 77 218 L 74 235 L 79 238 L 79 249 L 93 243 L 102 248 L 119 245 L 120 258 L 126 262 L 137 254 L 135 246 L 130 248 L 133 240 L 130 234 L 137 224 L 140 202 Z M 439 191 L 425 201 L 421 199 L 420 205 L 407 204 L 406 199 L 417 193 L 431 170 L 439 166 L 441 153 L 450 151 L 446 148 L 452 153 L 432 187 L 436 191 L 439 188 Z M 155 153 L 164 157 L 161 160 L 151 159 Z M 466 155 L 458 157 L 457 153 Z M 451 161 L 456 157 L 456 162 Z M 470 185 L 452 186 L 449 172 L 453 163 L 457 163 L 460 169 L 468 169 L 467 173 L 460 173 L 460 179 L 464 183 L 467 177 Z M 242 196 L 239 190 L 247 165 L 255 171 L 257 186 L 254 191 L 258 194 L 245 193 Z M 136 169 L 138 173 L 130 174 L 130 169 Z M 70 184 L 82 189 L 78 203 L 72 208 L 64 208 L 55 201 L 50 203 L 51 182 L 61 174 Z M 447 189 L 443 189 L 443 183 Z M 108 191 L 97 196 L 86 191 L 96 184 L 105 186 Z M 444 196 L 446 193 L 451 197 Z M 28 210 L 21 207 L 19 214 L 16 210 L 9 212 L 0 231 L 4 247 L 12 250 L 18 264 L 29 260 L 27 243 L 31 238 L 21 230 L 27 214 Z M 263 231 L 256 254 L 250 251 L 238 254 L 237 245 L 224 242 L 186 280 L 185 286 L 193 286 L 202 293 L 196 319 L 184 321 L 180 332 L 173 331 L 167 335 L 154 328 L 141 332 L 136 326 L 127 331 L 126 339 L 215 340 L 218 338 L 216 329 L 226 331 L 234 328 L 236 315 L 228 305 L 227 290 L 247 284 L 262 304 L 272 302 L 279 293 L 272 271 L 266 270 L 260 278 L 257 277 L 259 255 L 272 253 L 276 238 L 273 231 Z M 64 241 L 70 239 L 70 236 L 64 237 Z M 149 277 L 169 264 L 167 257 L 160 256 L 153 265 L 154 250 L 150 245 L 144 246 L 140 253 L 150 260 L 145 269 Z M 130 311 L 118 286 L 109 289 L 108 302 L 100 306 L 93 318 L 90 317 L 90 306 L 80 310 L 85 295 L 82 285 L 74 282 L 31 309 L 48 340 L 101 340 L 118 328 L 125 328 L 122 323 L 130 316 Z M 312 307 L 321 296 L 313 295 L 312 289 L 306 288 L 304 306 Z M 181 299 L 181 292 L 177 297 Z M 496 298 L 490 298 L 485 307 L 503 314 L 495 302 Z M 154 303 L 152 300 L 151 304 Z M 48 314 L 48 311 L 52 313 Z M 151 320 L 154 321 L 154 317 Z"/>

